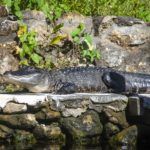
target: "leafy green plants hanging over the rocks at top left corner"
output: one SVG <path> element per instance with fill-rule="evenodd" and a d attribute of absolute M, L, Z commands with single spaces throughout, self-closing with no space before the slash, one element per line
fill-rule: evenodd
<path fill-rule="evenodd" d="M 45 13 L 47 18 L 52 21 L 58 19 L 62 13 L 69 11 L 69 7 L 59 1 L 46 1 L 46 0 L 3 0 L 3 4 L 7 5 L 12 14 L 22 19 L 22 10 L 36 9 Z"/>

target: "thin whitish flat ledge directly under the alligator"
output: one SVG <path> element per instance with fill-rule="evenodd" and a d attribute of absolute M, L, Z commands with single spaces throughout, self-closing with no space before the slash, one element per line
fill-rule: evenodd
<path fill-rule="evenodd" d="M 8 102 L 15 101 L 17 103 L 35 106 L 48 100 L 54 100 L 56 103 L 62 101 L 71 101 L 76 99 L 90 99 L 93 103 L 107 104 L 115 101 L 128 102 L 128 98 L 124 95 L 113 93 L 74 93 L 66 95 L 57 95 L 49 93 L 17 93 L 17 94 L 0 94 L 0 107 L 4 108 Z"/>

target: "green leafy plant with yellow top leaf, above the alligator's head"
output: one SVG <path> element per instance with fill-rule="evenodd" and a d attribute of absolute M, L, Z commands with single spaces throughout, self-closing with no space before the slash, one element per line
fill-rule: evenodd
<path fill-rule="evenodd" d="M 37 42 L 35 39 L 36 32 L 27 31 L 27 26 L 21 24 L 18 30 L 18 37 L 20 40 L 19 56 L 20 63 L 24 65 L 29 65 L 35 63 L 40 64 L 42 57 L 37 53 Z"/>

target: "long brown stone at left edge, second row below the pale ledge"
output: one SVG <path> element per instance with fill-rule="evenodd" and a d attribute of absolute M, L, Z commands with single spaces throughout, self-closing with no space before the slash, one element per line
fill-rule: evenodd
<path fill-rule="evenodd" d="M 13 128 L 26 130 L 32 129 L 37 124 L 34 114 L 0 114 L 0 122 Z"/>

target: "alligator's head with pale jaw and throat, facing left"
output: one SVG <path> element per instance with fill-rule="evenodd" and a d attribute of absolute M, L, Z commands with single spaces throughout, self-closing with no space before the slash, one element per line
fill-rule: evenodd
<path fill-rule="evenodd" d="M 48 74 L 41 69 L 22 67 L 17 71 L 7 71 L 3 75 L 6 83 L 21 85 L 31 92 L 47 92 Z"/>

